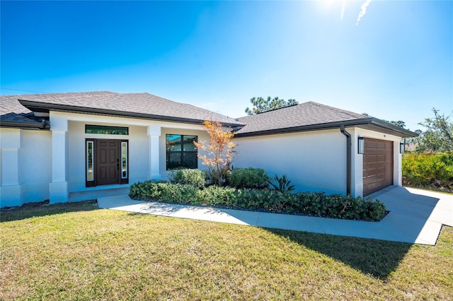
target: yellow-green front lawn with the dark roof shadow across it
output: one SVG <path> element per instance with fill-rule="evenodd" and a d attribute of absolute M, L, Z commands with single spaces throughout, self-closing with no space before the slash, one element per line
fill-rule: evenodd
<path fill-rule="evenodd" d="M 0 300 L 453 298 L 453 228 L 433 247 L 95 205 L 1 213 Z"/>

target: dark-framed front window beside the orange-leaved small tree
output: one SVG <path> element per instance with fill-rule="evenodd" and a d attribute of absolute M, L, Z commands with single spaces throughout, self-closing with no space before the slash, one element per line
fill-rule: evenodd
<path fill-rule="evenodd" d="M 197 148 L 193 142 L 197 136 L 166 135 L 167 170 L 173 168 L 197 168 Z"/>

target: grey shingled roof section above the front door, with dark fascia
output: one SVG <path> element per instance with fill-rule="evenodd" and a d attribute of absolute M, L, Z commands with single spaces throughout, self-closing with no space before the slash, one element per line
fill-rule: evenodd
<path fill-rule="evenodd" d="M 20 96 L 20 97 L 18 97 Z M 153 119 L 200 124 L 218 120 L 225 126 L 241 126 L 236 119 L 180 102 L 173 102 L 149 93 L 49 93 L 16 95 L 18 102 L 33 112 L 75 112 L 117 117 Z"/>

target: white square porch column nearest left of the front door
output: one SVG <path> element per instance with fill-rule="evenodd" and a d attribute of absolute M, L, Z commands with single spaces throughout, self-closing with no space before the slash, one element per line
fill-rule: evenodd
<path fill-rule="evenodd" d="M 68 172 L 68 125 L 67 120 L 55 122 L 52 129 L 52 183 L 49 184 L 50 203 L 67 202 L 69 187 Z M 51 119 L 52 126 L 52 119 Z"/>

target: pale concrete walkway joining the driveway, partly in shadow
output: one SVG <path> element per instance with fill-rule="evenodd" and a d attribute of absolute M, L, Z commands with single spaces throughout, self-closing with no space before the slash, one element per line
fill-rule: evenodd
<path fill-rule="evenodd" d="M 453 226 L 453 194 L 388 187 L 371 196 L 382 201 L 390 211 L 379 222 L 134 201 L 127 194 L 98 198 L 98 206 L 173 218 L 432 245 L 442 225 Z"/>

